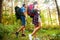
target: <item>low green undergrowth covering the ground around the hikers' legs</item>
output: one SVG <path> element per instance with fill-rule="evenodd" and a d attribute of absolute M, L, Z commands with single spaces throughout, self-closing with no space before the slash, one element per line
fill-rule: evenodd
<path fill-rule="evenodd" d="M 15 23 L 14 25 L 3 25 L 0 24 L 0 39 L 7 38 L 6 40 L 15 40 L 15 32 L 19 28 L 19 24 Z M 31 26 L 26 26 L 26 37 L 24 37 L 25 40 L 28 40 L 28 34 L 30 34 L 33 31 L 33 27 Z M 37 33 L 38 37 L 43 40 L 43 39 L 49 39 L 49 40 L 60 40 L 60 29 L 59 28 L 42 28 L 41 30 L 38 31 Z M 23 40 L 21 37 L 21 32 L 19 34 L 19 37 L 16 40 Z M 2 40 L 2 39 L 1 39 Z"/>

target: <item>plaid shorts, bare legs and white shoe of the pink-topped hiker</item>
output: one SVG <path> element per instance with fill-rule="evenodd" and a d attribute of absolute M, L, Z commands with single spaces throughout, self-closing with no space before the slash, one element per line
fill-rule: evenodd
<path fill-rule="evenodd" d="M 35 28 L 31 34 L 29 34 L 29 39 L 32 40 L 32 36 L 36 37 L 36 32 L 41 28 L 41 23 L 38 21 L 38 15 L 34 15 L 32 22 L 35 25 Z"/>

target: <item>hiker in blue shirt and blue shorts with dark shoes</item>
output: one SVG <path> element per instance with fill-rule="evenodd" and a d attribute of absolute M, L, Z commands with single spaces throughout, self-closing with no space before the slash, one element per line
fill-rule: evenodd
<path fill-rule="evenodd" d="M 25 20 L 26 19 L 26 14 L 25 14 L 25 12 L 26 12 L 26 5 L 23 4 L 22 7 L 18 9 L 18 12 L 20 13 L 19 14 L 19 18 L 20 18 L 20 20 L 22 22 L 22 26 L 21 26 L 21 28 L 19 28 L 17 30 L 16 36 L 18 36 L 20 31 L 22 31 L 22 36 L 26 36 L 25 33 L 24 33 L 24 31 L 25 31 L 25 24 L 26 24 L 26 20 Z"/>

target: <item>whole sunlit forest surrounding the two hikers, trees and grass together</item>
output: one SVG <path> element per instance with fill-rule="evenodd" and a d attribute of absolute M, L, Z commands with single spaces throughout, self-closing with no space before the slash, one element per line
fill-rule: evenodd
<path fill-rule="evenodd" d="M 16 40 L 15 32 L 21 26 L 21 21 L 15 17 L 15 6 L 21 7 L 35 0 L 0 0 L 0 40 Z M 36 0 L 40 9 L 42 20 L 42 29 L 39 30 L 38 36 L 42 40 L 60 40 L 60 0 Z M 32 19 L 27 16 L 26 34 L 32 32 Z M 45 29 L 44 29 L 45 28 Z M 20 39 L 21 35 L 19 35 Z M 28 40 L 28 37 L 21 38 Z"/>

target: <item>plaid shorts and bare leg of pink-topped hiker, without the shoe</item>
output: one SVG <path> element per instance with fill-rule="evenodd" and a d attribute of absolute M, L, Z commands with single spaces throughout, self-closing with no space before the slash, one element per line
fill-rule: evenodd
<path fill-rule="evenodd" d="M 41 28 L 41 22 L 39 21 L 39 15 L 36 14 L 33 18 L 33 24 L 35 25 L 35 28 L 32 32 L 32 36 L 36 34 L 36 32 Z"/>

